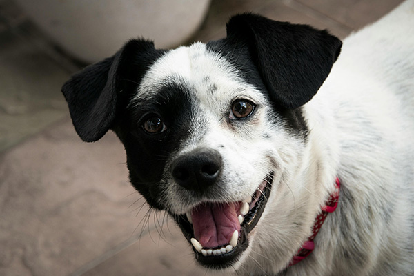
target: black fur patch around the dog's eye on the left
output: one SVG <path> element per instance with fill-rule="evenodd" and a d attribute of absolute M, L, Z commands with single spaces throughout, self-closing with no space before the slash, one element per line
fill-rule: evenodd
<path fill-rule="evenodd" d="M 168 77 L 161 83 L 152 97 L 128 106 L 117 135 L 126 149 L 132 186 L 144 195 L 150 206 L 165 209 L 157 199 L 161 193 L 159 182 L 170 155 L 192 135 L 196 103 L 190 97 L 192 88 L 179 77 Z M 159 115 L 166 131 L 159 135 L 144 132 L 141 126 L 148 114 Z"/>

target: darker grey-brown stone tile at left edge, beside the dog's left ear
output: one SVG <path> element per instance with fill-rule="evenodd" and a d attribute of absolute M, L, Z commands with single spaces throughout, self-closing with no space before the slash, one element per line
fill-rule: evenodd
<path fill-rule="evenodd" d="M 27 41 L 0 34 L 0 152 L 68 114 L 60 88 L 69 75 Z"/>

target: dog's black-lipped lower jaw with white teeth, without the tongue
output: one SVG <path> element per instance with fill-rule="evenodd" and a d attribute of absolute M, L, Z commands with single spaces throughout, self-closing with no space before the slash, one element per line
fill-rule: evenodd
<path fill-rule="evenodd" d="M 240 228 L 238 231 L 238 237 L 233 237 L 233 241 L 228 242 L 220 242 L 215 244 L 215 246 L 202 246 L 202 250 L 200 248 L 195 248 L 194 241 L 192 239 L 195 238 L 195 230 L 193 228 L 193 224 L 189 221 L 187 215 L 173 215 L 175 221 L 181 228 L 184 236 L 193 244 L 192 248 L 195 253 L 195 259 L 197 262 L 202 266 L 210 269 L 225 269 L 230 266 L 234 266 L 239 259 L 241 259 L 243 253 L 249 246 L 249 239 L 255 231 L 252 231 L 259 219 L 262 217 L 262 213 L 264 212 L 264 208 L 266 207 L 267 200 L 270 195 L 270 190 L 273 183 L 273 172 L 270 172 L 268 176 L 262 181 L 262 185 L 259 186 L 257 191 L 252 195 L 252 199 L 250 202 L 250 210 L 246 215 L 244 215 L 244 219 L 242 223 L 240 223 Z M 201 203 L 203 204 L 203 203 Z M 229 203 L 220 203 L 217 202 L 215 204 L 229 204 Z M 230 203 L 231 204 L 231 203 Z M 244 204 L 242 201 L 234 202 L 235 206 L 242 206 Z M 234 234 L 234 233 L 233 233 Z M 235 239 L 237 239 L 237 245 L 230 246 L 235 244 Z M 198 242 L 198 241 L 197 241 Z M 199 244 L 201 246 L 201 244 Z M 220 252 L 219 252 L 220 251 Z"/>

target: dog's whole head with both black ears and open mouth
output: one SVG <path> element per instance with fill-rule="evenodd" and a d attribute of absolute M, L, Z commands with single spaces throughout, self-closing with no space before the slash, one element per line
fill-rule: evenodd
<path fill-rule="evenodd" d="M 226 268 L 248 257 L 266 217 L 293 209 L 286 183 L 309 131 L 301 106 L 340 46 L 324 31 L 242 14 L 207 44 L 130 41 L 63 93 L 79 136 L 114 130 L 132 185 L 172 215 L 200 264 Z"/>

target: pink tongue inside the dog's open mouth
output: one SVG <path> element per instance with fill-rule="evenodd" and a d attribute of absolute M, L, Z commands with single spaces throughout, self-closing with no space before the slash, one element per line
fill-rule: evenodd
<path fill-rule="evenodd" d="M 194 237 L 205 248 L 224 246 L 237 230 L 240 223 L 237 215 L 240 203 L 201 204 L 191 211 Z"/>

